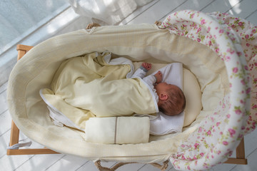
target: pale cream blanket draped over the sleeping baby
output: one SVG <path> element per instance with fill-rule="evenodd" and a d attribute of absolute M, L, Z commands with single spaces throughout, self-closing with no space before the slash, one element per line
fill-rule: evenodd
<path fill-rule="evenodd" d="M 158 112 L 148 86 L 140 78 L 126 78 L 133 72 L 131 66 L 113 65 L 116 61 L 111 61 L 111 53 L 89 53 L 61 63 L 51 90 L 40 92 L 50 113 L 65 116 L 74 128 L 84 130 L 92 117 Z"/>

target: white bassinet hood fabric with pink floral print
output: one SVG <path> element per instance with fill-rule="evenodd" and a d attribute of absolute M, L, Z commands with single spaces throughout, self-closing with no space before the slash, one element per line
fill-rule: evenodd
<path fill-rule="evenodd" d="M 178 11 L 160 28 L 193 39 L 224 61 L 231 93 L 221 100 L 170 160 L 177 170 L 205 170 L 225 162 L 257 123 L 257 27 L 229 14 Z"/>

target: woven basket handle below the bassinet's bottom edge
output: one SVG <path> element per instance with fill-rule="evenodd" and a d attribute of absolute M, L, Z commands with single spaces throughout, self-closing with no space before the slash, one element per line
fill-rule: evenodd
<path fill-rule="evenodd" d="M 138 163 L 138 162 L 119 162 L 116 165 L 114 165 L 113 167 L 108 168 L 108 167 L 102 167 L 100 160 L 97 160 L 96 162 L 94 162 L 94 164 L 96 165 L 96 167 L 98 168 L 99 171 L 115 171 L 116 169 L 118 169 L 119 167 L 121 167 L 123 165 L 133 164 L 133 163 Z M 167 169 L 167 167 L 168 167 L 168 160 L 163 162 L 163 165 L 159 165 L 156 162 L 149 163 L 149 164 L 153 165 L 154 167 L 157 167 L 161 171 L 165 171 Z"/>

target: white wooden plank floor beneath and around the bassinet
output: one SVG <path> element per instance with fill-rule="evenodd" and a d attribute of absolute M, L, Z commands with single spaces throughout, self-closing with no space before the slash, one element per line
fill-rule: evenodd
<path fill-rule="evenodd" d="M 141 7 L 128 16 L 120 25 L 151 23 L 156 20 L 163 20 L 174 12 L 183 9 L 195 9 L 203 12 L 222 11 L 251 21 L 257 25 L 257 0 L 154 0 L 150 4 Z M 78 20 L 79 21 L 79 20 Z M 78 23 L 74 21 L 73 24 Z M 82 26 L 82 25 L 80 25 Z M 74 28 L 79 28 L 75 26 Z M 83 28 L 83 27 L 82 27 Z M 70 31 L 70 30 L 69 30 Z M 66 32 L 65 29 L 60 33 Z M 24 155 L 7 156 L 6 147 L 9 143 L 11 117 L 6 106 L 7 82 L 0 85 L 0 170 L 97 170 L 94 163 L 71 155 Z M 25 135 L 20 135 L 21 139 L 26 140 Z M 245 136 L 246 157 L 248 165 L 217 165 L 211 170 L 257 170 L 257 130 Z M 32 147 L 41 147 L 36 142 Z M 234 155 L 234 154 L 233 154 Z M 104 163 L 104 166 L 111 167 L 115 162 Z M 153 171 L 157 170 L 151 165 L 133 164 L 120 167 L 119 171 Z M 175 170 L 171 164 L 167 170 Z"/>

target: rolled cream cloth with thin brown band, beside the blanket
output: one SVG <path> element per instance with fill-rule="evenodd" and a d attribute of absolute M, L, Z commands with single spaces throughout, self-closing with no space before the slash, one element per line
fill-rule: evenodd
<path fill-rule="evenodd" d="M 149 139 L 148 117 L 89 118 L 86 121 L 87 142 L 102 144 L 137 144 Z"/>

